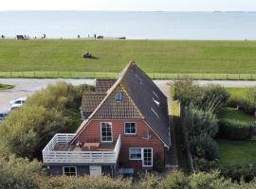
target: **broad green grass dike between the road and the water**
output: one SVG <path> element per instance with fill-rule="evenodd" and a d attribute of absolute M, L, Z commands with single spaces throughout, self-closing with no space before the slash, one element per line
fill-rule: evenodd
<path fill-rule="evenodd" d="M 0 40 L 0 77 L 116 77 L 136 60 L 155 78 L 256 79 L 255 51 L 242 41 Z"/>

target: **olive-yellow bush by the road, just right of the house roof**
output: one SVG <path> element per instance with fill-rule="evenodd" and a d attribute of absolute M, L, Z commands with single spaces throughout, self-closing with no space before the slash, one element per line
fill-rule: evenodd
<path fill-rule="evenodd" d="M 178 100 L 182 106 L 198 105 L 202 99 L 203 91 L 193 83 L 191 77 L 183 77 L 174 81 L 174 100 Z"/>

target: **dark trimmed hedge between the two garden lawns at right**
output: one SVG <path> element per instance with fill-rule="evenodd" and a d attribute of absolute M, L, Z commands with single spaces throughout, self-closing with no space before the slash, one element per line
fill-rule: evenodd
<path fill-rule="evenodd" d="M 251 122 L 241 122 L 237 120 L 220 120 L 220 138 L 230 140 L 246 140 L 256 135 L 256 125 Z"/>

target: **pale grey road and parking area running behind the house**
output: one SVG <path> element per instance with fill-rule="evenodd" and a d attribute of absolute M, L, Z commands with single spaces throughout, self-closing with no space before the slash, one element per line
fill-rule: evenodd
<path fill-rule="evenodd" d="M 15 85 L 13 89 L 0 91 L 0 111 L 9 109 L 9 101 L 18 97 L 28 96 L 46 88 L 48 84 L 55 84 L 59 81 L 65 81 L 73 85 L 95 84 L 95 79 L 62 79 L 62 78 L 0 78 L 0 83 Z M 168 87 L 171 80 L 155 80 L 159 88 Z M 225 87 L 250 87 L 256 86 L 256 81 L 244 80 L 199 80 L 199 85 L 220 84 Z"/>

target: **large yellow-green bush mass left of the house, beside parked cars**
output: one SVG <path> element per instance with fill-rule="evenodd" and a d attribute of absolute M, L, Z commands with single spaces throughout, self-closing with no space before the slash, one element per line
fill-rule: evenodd
<path fill-rule="evenodd" d="M 20 157 L 40 158 L 55 133 L 74 131 L 79 126 L 83 88 L 60 82 L 28 97 L 26 104 L 2 123 L 0 152 L 9 150 Z"/>

